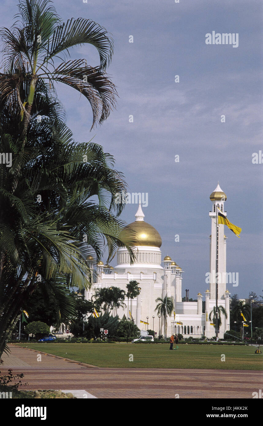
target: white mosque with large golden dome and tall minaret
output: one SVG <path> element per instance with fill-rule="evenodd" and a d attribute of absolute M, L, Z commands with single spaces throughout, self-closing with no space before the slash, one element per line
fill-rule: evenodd
<path fill-rule="evenodd" d="M 156 299 L 162 299 L 172 296 L 174 300 L 174 311 L 171 317 L 168 317 L 167 335 L 172 333 L 181 333 L 184 337 L 202 337 L 208 339 L 215 336 L 214 325 L 209 321 L 209 314 L 216 304 L 216 206 L 225 214 L 224 203 L 225 193 L 221 190 L 219 184 L 214 192 L 211 193 L 210 200 L 212 208 L 209 212 L 211 218 L 210 239 L 210 271 L 211 279 L 209 288 L 205 290 L 205 312 L 202 312 L 203 295 L 197 294 L 197 302 L 182 302 L 182 268 L 176 265 L 170 256 L 165 256 L 162 261 L 161 245 L 162 239 L 158 231 L 144 220 L 144 213 L 141 204 L 135 215 L 135 221 L 128 226 L 136 231 L 138 246 L 136 260 L 130 265 L 130 256 L 126 248 L 119 248 L 117 252 L 117 265 L 103 265 L 98 263 L 99 279 L 92 285 L 90 290 L 85 291 L 85 299 L 90 300 L 96 288 L 119 287 L 125 292 L 126 285 L 130 280 L 136 280 L 141 288 L 139 296 L 132 301 L 132 315 L 136 325 L 142 330 L 147 328 L 154 330 L 159 335 L 165 335 L 165 324 L 163 317 L 157 315 Z M 219 338 L 223 338 L 225 331 L 229 330 L 229 302 L 230 293 L 226 289 L 226 236 L 224 234 L 224 225 L 218 225 L 218 272 L 220 279 L 218 283 L 218 305 L 222 305 L 227 318 L 221 314 L 222 325 L 220 326 Z M 208 286 L 205 284 L 204 288 Z M 128 300 L 124 301 L 127 305 Z M 125 314 L 127 317 L 127 308 L 119 308 L 118 316 L 120 318 Z M 212 316 L 213 318 L 213 316 Z"/>

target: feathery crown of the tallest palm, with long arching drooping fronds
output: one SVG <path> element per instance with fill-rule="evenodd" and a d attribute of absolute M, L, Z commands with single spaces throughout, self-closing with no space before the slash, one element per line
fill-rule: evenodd
<path fill-rule="evenodd" d="M 62 82 L 78 90 L 90 102 L 92 127 L 106 120 L 115 107 L 116 89 L 105 73 L 113 55 L 113 40 L 107 31 L 90 19 L 69 19 L 61 23 L 50 0 L 20 0 L 19 14 L 11 29 L 1 30 L 5 73 L 0 75 L 1 91 L 10 102 L 12 93 L 23 119 L 23 144 L 35 102 L 38 81 L 54 89 Z M 98 50 L 100 65 L 87 65 L 85 59 L 68 60 L 69 50 L 89 43 Z M 58 60 L 61 60 L 58 65 Z M 23 85 L 29 86 L 26 97 L 20 97 Z"/>

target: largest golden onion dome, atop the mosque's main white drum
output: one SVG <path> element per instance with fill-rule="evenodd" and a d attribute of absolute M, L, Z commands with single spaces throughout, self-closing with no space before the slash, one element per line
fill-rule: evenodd
<path fill-rule="evenodd" d="M 136 232 L 136 245 L 161 247 L 162 238 L 159 232 L 152 225 L 149 225 L 145 221 L 135 221 L 130 223 L 128 227 Z"/>

